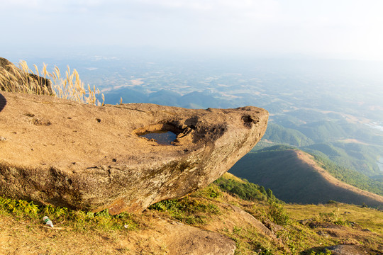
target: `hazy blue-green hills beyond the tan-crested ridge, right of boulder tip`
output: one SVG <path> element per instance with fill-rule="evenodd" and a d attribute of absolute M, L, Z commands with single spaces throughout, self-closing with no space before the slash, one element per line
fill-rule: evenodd
<path fill-rule="evenodd" d="M 299 109 L 277 115 L 268 125 L 264 138 L 274 145 L 292 145 L 331 159 L 372 179 L 383 176 L 377 166 L 378 157 L 383 155 L 382 132 L 350 123 L 338 113 Z"/>

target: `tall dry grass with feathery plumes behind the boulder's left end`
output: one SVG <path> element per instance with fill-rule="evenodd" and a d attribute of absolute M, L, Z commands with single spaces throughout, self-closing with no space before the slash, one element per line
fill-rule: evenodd
<path fill-rule="evenodd" d="M 9 64 L 4 69 L 0 69 L 0 90 L 38 95 L 52 95 L 58 98 L 64 98 L 79 103 L 87 103 L 94 106 L 104 105 L 97 96 L 100 90 L 95 86 L 91 88 L 88 84 L 87 89 L 84 83 L 79 79 L 79 73 L 76 69 L 71 72 L 70 67 L 65 71 L 65 77 L 62 77 L 60 69 L 55 67 L 52 72 L 48 72 L 47 65 L 43 64 L 43 69 L 38 70 L 34 64 L 30 69 L 26 61 L 18 64 L 19 68 Z M 50 87 L 52 88 L 50 90 Z"/>

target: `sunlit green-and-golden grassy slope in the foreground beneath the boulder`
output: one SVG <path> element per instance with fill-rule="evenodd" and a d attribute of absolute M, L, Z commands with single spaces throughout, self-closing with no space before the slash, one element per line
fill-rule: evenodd
<path fill-rule="evenodd" d="M 319 254 L 324 246 L 343 243 L 371 254 L 383 251 L 383 212 L 378 210 L 344 204 L 283 209 L 264 200 L 241 200 L 214 184 L 135 215 L 112 217 L 60 208 L 38 208 L 41 212 L 34 215 L 26 208 L 28 203 L 16 209 L 0 203 L 0 254 L 168 254 L 172 240 L 160 239 L 161 222 L 174 221 L 225 234 L 235 241 L 235 254 Z M 41 222 L 47 212 L 56 229 Z M 281 215 L 286 217 L 277 224 Z M 297 222 L 307 218 L 313 219 L 311 227 Z M 122 227 L 125 224 L 129 227 Z M 362 230 L 366 227 L 371 232 Z"/>

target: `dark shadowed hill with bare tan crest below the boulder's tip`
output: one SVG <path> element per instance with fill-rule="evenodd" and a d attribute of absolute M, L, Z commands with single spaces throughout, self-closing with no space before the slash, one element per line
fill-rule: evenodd
<path fill-rule="evenodd" d="M 307 154 L 294 149 L 250 153 L 230 171 L 236 176 L 271 188 L 277 198 L 287 203 L 326 203 L 328 200 L 337 200 L 383 207 L 382 197 L 367 197 L 362 194 L 364 191 L 329 178 L 326 171 L 308 162 L 307 157 L 302 155 Z"/>

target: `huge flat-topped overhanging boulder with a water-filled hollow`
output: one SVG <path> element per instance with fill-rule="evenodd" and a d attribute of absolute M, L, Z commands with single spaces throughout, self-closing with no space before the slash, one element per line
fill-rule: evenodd
<path fill-rule="evenodd" d="M 1 92 L 0 196 L 112 214 L 180 198 L 218 179 L 260 140 L 268 113 L 88 106 Z M 172 145 L 140 135 L 174 132 Z"/>

